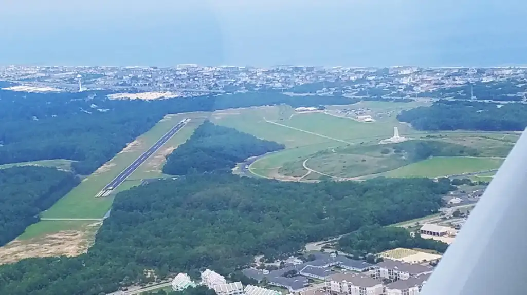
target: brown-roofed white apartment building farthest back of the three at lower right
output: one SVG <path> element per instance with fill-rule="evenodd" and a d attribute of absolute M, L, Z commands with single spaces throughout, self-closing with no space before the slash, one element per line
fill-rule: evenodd
<path fill-rule="evenodd" d="M 375 266 L 375 278 L 395 282 L 398 280 L 417 278 L 423 274 L 430 274 L 433 270 L 430 266 L 385 258 L 384 261 L 377 263 Z"/>

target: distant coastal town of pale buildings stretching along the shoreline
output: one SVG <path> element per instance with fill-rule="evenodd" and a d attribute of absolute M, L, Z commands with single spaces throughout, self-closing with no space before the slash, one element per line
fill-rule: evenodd
<path fill-rule="evenodd" d="M 16 91 L 106 89 L 115 92 L 110 96 L 114 99 L 279 90 L 291 95 L 419 98 L 438 97 L 441 93 L 454 99 L 523 101 L 527 68 L 4 66 L 0 67 L 0 80 L 13 83 L 4 89 Z"/>

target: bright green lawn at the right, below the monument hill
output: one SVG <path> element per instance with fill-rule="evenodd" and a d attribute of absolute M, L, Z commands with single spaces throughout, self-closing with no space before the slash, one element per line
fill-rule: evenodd
<path fill-rule="evenodd" d="M 497 169 L 503 159 L 470 157 L 434 157 L 388 171 L 386 177 L 442 177 Z"/>

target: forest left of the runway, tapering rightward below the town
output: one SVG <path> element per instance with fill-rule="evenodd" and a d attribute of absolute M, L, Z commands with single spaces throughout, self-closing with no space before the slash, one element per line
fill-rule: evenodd
<path fill-rule="evenodd" d="M 39 94 L 0 90 L 0 164 L 69 159 L 75 160 L 72 168 L 77 174 L 89 175 L 167 114 L 358 101 L 338 96 L 291 97 L 276 91 L 154 101 L 111 100 L 106 94 L 109 91 Z"/>

